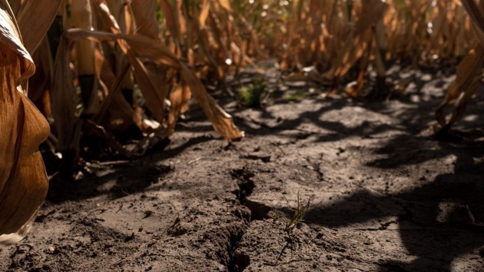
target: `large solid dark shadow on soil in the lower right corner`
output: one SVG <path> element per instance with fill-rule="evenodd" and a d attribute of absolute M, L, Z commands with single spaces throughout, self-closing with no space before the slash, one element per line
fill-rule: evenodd
<path fill-rule="evenodd" d="M 482 154 L 484 147 L 473 151 Z M 308 224 L 337 228 L 396 216 L 396 222 L 362 231 L 385 230 L 398 223 L 401 241 L 416 259 L 411 263 L 389 261 L 379 265 L 397 271 L 450 271 L 457 256 L 484 245 L 483 227 L 471 225 L 464 208 L 468 205 L 477 220 L 484 216 L 484 162 L 475 164 L 469 149 L 455 149 L 454 155 L 457 161 L 452 174 L 438 175 L 426 185 L 400 193 L 377 195 L 367 190 L 356 191 L 329 207 L 315 208 L 305 220 Z"/>

